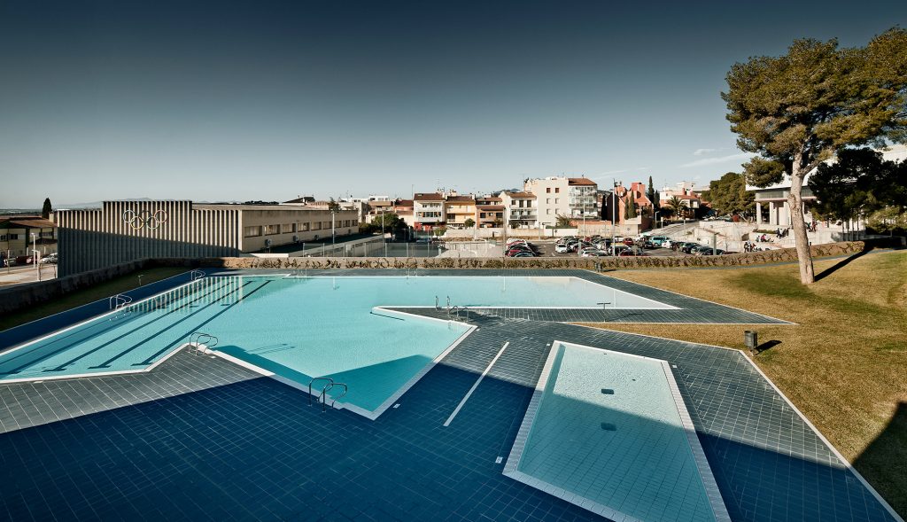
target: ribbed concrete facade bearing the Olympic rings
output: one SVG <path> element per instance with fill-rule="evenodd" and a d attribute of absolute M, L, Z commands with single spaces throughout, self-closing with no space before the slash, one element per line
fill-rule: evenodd
<path fill-rule="evenodd" d="M 238 256 L 239 209 L 195 209 L 189 201 L 103 202 L 101 209 L 59 211 L 59 274 L 144 258 Z"/>

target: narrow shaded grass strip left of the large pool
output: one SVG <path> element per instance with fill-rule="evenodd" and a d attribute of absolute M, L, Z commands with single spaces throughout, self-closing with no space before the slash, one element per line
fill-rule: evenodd
<path fill-rule="evenodd" d="M 165 267 L 141 270 L 112 279 L 111 281 L 93 285 L 84 290 L 73 291 L 58 299 L 45 302 L 44 304 L 35 305 L 25 310 L 19 310 L 0 316 L 0 331 L 8 330 L 14 326 L 38 320 L 49 315 L 54 315 L 54 313 L 71 310 L 77 306 L 82 306 L 83 304 L 95 300 L 107 299 L 112 295 L 124 291 L 131 291 L 139 286 L 139 278 L 137 277 L 139 274 L 141 274 L 141 284 L 146 285 L 154 281 L 167 279 L 188 270 L 189 269 L 185 267 Z"/>

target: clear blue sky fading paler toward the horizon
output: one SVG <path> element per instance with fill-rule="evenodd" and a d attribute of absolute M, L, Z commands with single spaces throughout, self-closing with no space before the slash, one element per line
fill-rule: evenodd
<path fill-rule="evenodd" d="M 907 25 L 902 2 L 610 4 L 0 0 L 0 208 L 707 182 L 745 161 L 732 64 Z"/>

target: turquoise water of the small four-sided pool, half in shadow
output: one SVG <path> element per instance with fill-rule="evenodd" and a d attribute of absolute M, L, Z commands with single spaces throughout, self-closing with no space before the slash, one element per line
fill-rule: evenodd
<path fill-rule="evenodd" d="M 663 363 L 565 343 L 552 350 L 522 454 L 511 457 L 515 478 L 610 508 L 609 517 L 715 520 Z"/>

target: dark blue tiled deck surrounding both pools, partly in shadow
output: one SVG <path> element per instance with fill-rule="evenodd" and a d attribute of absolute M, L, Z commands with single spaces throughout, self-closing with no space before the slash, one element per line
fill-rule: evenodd
<path fill-rule="evenodd" d="M 146 373 L 0 384 L 0 519 L 601 520 L 502 474 L 560 340 L 668 361 L 731 519 L 898 520 L 742 353 L 562 322 L 783 320 L 587 271 L 519 274 L 581 277 L 678 310 L 482 310 L 376 420 L 321 413 L 305 392 L 186 350 Z M 0 332 L 0 350 L 102 311 Z"/>

